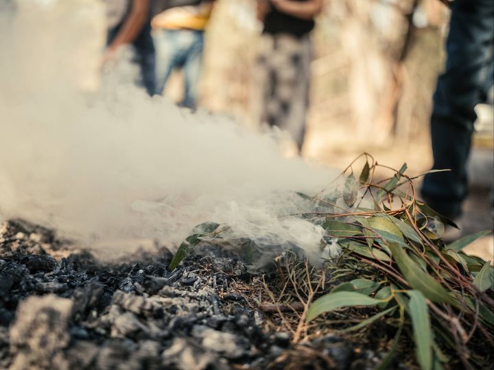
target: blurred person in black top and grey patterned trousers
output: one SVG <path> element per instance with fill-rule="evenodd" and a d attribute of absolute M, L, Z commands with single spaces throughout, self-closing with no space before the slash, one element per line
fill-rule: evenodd
<path fill-rule="evenodd" d="M 323 0 L 257 0 L 263 32 L 255 66 L 257 122 L 289 132 L 301 150 L 309 108 L 314 17 Z"/>

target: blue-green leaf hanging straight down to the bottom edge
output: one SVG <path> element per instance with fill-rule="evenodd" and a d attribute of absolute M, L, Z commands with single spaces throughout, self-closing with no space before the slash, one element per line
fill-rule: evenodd
<path fill-rule="evenodd" d="M 408 312 L 412 318 L 415 354 L 421 369 L 432 369 L 432 330 L 425 297 L 419 291 L 407 291 Z"/>

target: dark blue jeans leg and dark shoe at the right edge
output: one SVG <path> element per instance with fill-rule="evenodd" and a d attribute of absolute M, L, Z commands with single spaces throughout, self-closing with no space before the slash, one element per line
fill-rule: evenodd
<path fill-rule="evenodd" d="M 460 216 L 467 197 L 467 160 L 473 108 L 493 85 L 494 1 L 456 0 L 451 5 L 445 72 L 438 78 L 431 118 L 433 169 L 424 178 L 422 195 L 434 210 Z"/>

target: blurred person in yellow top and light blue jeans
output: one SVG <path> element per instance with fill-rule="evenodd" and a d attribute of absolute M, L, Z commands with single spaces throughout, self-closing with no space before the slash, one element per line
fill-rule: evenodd
<path fill-rule="evenodd" d="M 204 30 L 214 0 L 165 0 L 157 4 L 163 11 L 152 18 L 156 47 L 156 90 L 163 94 L 174 69 L 183 70 L 184 97 L 179 105 L 195 109 L 202 71 Z"/>

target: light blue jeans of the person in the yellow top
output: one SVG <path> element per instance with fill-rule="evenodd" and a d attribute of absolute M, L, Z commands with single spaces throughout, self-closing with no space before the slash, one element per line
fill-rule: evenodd
<path fill-rule="evenodd" d="M 154 29 L 152 36 L 156 49 L 155 93 L 163 94 L 163 88 L 172 71 L 183 69 L 185 93 L 180 105 L 196 108 L 204 32 L 191 29 Z"/>

